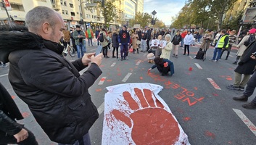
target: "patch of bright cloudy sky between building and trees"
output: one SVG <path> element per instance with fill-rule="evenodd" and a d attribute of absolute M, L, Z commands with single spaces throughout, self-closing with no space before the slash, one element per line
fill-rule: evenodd
<path fill-rule="evenodd" d="M 144 12 L 151 14 L 155 10 L 155 17 L 170 25 L 171 17 L 178 14 L 184 5 L 185 0 L 144 0 Z"/>

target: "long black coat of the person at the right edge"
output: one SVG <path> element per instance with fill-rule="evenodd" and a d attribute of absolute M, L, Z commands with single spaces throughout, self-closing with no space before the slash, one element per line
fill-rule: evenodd
<path fill-rule="evenodd" d="M 236 67 L 235 72 L 244 75 L 252 75 L 255 70 L 256 60 L 251 58 L 252 53 L 256 51 L 256 42 L 252 42 L 244 51 L 239 65 Z"/>

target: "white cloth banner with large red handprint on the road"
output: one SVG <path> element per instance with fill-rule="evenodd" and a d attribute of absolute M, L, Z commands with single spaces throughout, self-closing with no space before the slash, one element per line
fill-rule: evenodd
<path fill-rule="evenodd" d="M 102 144 L 186 144 L 184 133 L 165 101 L 162 86 L 126 83 L 107 87 Z"/>

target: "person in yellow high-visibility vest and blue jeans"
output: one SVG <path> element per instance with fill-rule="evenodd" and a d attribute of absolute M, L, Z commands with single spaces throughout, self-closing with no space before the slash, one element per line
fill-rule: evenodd
<path fill-rule="evenodd" d="M 227 49 L 228 43 L 229 43 L 229 38 L 228 38 L 228 34 L 226 33 L 226 30 L 221 30 L 220 38 L 218 39 L 218 42 L 215 45 L 213 57 L 210 60 L 212 60 L 213 62 L 218 62 L 218 59 L 220 59 L 222 49 Z M 218 53 L 218 56 L 217 56 L 217 53 Z"/>

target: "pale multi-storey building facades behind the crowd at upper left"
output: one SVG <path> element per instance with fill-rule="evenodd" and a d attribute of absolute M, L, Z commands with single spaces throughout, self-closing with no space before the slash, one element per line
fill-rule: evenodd
<path fill-rule="evenodd" d="M 25 14 L 37 6 L 46 6 L 62 14 L 65 23 L 69 26 L 78 25 L 80 20 L 87 26 L 95 29 L 104 25 L 104 17 L 99 9 L 100 1 L 97 0 L 9 0 L 12 10 L 9 16 L 18 24 L 24 25 Z M 121 22 L 131 19 L 136 12 L 143 12 L 144 0 L 115 0 L 115 9 L 119 20 L 112 25 L 121 25 Z M 0 9 L 1 24 L 7 23 L 8 17 L 4 8 Z"/>

